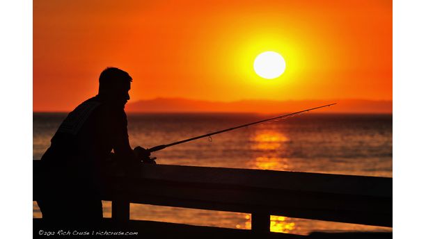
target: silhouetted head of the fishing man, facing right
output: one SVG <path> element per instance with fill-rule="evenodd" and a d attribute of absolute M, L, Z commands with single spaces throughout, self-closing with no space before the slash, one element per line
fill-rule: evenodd
<path fill-rule="evenodd" d="M 116 67 L 107 67 L 99 76 L 99 94 L 126 104 L 130 99 L 130 82 L 132 77 L 127 72 Z"/>

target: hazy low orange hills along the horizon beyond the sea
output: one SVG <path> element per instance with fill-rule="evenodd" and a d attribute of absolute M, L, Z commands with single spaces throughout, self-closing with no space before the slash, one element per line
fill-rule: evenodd
<path fill-rule="evenodd" d="M 318 113 L 392 113 L 392 101 L 363 99 L 336 100 L 242 100 L 232 102 L 201 101 L 182 98 L 157 98 L 140 100 L 127 104 L 128 112 L 177 113 L 177 112 L 255 112 L 281 113 L 313 108 L 325 104 L 338 103 Z"/>

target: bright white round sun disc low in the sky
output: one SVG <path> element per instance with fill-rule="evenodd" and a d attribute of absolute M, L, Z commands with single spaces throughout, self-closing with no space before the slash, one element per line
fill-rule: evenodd
<path fill-rule="evenodd" d="M 265 51 L 255 58 L 253 64 L 258 76 L 265 79 L 274 79 L 285 71 L 285 60 L 283 56 L 275 51 Z"/>

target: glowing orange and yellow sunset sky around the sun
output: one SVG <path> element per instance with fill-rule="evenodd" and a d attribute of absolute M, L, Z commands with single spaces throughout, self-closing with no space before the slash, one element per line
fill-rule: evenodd
<path fill-rule="evenodd" d="M 255 74 L 263 51 L 282 76 Z M 392 1 L 33 2 L 34 111 L 72 110 L 107 66 L 133 77 L 130 102 L 391 100 Z"/>

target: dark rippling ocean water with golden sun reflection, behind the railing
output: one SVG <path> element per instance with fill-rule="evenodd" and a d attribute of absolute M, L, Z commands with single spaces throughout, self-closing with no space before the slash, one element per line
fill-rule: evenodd
<path fill-rule="evenodd" d="M 255 122 L 276 115 L 253 113 L 128 114 L 132 147 L 154 147 Z M 66 117 L 33 114 L 33 159 L 39 159 Z M 213 135 L 153 154 L 157 163 L 260 170 L 320 172 L 392 177 L 392 115 L 305 113 L 285 120 Z M 33 203 L 33 217 L 41 217 Z M 111 203 L 104 201 L 104 216 Z M 251 228 L 251 215 L 132 204 L 131 218 L 239 229 Z M 361 226 L 271 216 L 271 231 L 391 231 Z"/>

